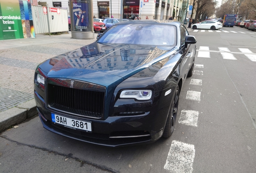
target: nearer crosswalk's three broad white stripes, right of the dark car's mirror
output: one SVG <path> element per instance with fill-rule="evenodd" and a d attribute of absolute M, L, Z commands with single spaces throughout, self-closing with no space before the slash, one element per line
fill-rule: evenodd
<path fill-rule="evenodd" d="M 231 52 L 229 48 L 218 47 L 219 50 L 210 50 L 208 46 L 199 46 L 197 57 L 211 58 L 210 52 L 219 52 L 223 59 L 237 60 L 234 54 L 243 54 L 249 60 L 256 62 L 256 53 L 252 52 L 248 48 L 237 48 L 237 51 Z"/>

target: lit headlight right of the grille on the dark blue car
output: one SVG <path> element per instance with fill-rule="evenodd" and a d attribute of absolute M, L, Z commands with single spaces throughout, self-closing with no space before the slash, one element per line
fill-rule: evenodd
<path fill-rule="evenodd" d="M 151 90 L 125 90 L 120 94 L 122 99 L 137 99 L 137 100 L 149 100 L 151 99 L 152 91 Z"/>

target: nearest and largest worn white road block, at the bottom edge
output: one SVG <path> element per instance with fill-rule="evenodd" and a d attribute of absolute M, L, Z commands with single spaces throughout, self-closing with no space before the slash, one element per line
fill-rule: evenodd
<path fill-rule="evenodd" d="M 164 169 L 172 173 L 192 173 L 195 152 L 192 144 L 172 141 Z"/>

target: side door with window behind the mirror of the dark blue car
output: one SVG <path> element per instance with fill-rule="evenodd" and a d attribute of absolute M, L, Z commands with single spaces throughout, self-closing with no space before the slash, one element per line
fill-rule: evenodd
<path fill-rule="evenodd" d="M 193 62 L 193 54 L 194 50 L 191 44 L 186 45 L 186 36 L 189 35 L 185 26 L 180 26 L 180 34 L 181 34 L 181 54 L 182 54 L 182 63 L 181 63 L 181 77 L 186 79 L 188 71 L 190 69 L 191 63 Z"/>

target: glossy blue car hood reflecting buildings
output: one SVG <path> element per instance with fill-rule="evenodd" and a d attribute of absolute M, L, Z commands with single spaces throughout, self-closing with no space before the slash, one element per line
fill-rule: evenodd
<path fill-rule="evenodd" d="M 171 49 L 173 47 L 100 44 L 94 42 L 74 51 L 55 56 L 45 62 L 47 65 L 41 64 L 41 68 L 46 73 L 50 71 L 51 75 L 60 70 L 70 69 L 66 71 L 76 73 L 97 71 L 114 74 L 126 79 L 163 58 L 170 56 L 170 54 L 166 53 Z M 60 74 L 60 72 L 56 74 Z"/>

